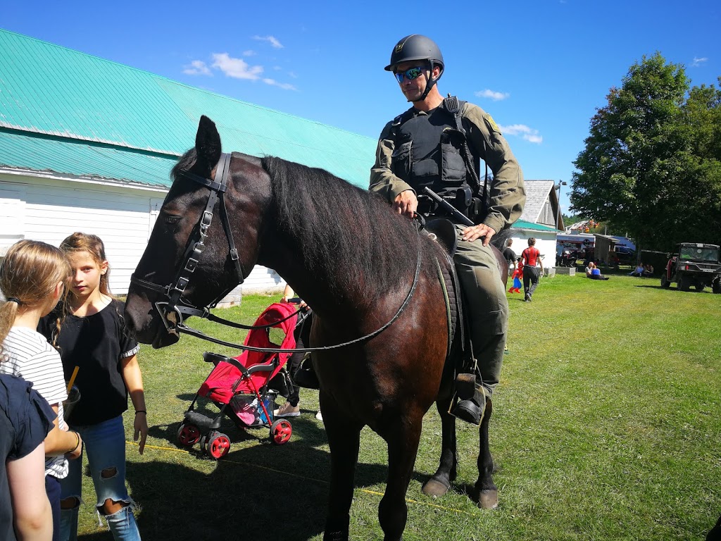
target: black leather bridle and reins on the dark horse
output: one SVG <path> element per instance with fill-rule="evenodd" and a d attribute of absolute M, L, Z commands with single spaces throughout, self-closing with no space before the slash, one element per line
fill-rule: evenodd
<path fill-rule="evenodd" d="M 301 311 L 301 309 L 298 309 L 293 314 L 288 315 L 288 317 L 285 317 L 282 320 L 278 320 L 273 323 L 269 323 L 268 325 L 243 325 L 242 323 L 225 320 L 222 317 L 217 317 L 211 314 L 211 309 L 215 308 L 218 302 L 220 302 L 221 299 L 224 298 L 224 296 L 226 296 L 230 291 L 232 291 L 234 287 L 236 287 L 240 283 L 243 283 L 244 281 L 244 276 L 238 256 L 238 250 L 236 250 L 235 243 L 233 241 L 233 232 L 230 228 L 228 211 L 226 210 L 224 199 L 224 193 L 228 186 L 230 159 L 231 154 L 221 154 L 221 158 L 218 161 L 218 165 L 216 166 L 216 175 L 214 180 L 201 177 L 200 175 L 195 175 L 194 173 L 188 172 L 186 170 L 180 170 L 180 175 L 187 178 L 187 180 L 193 180 L 193 182 L 197 182 L 198 184 L 205 186 L 205 188 L 208 188 L 208 190 L 210 190 L 210 193 L 208 194 L 208 202 L 205 204 L 205 211 L 203 211 L 203 214 L 200 215 L 198 224 L 195 226 L 195 229 L 193 229 L 193 233 L 191 233 L 190 237 L 188 237 L 187 239 L 187 247 L 185 249 L 185 255 L 183 256 L 184 263 L 182 264 L 180 271 L 178 271 L 178 273 L 176 274 L 174 280 L 167 286 L 160 286 L 157 283 L 143 280 L 143 278 L 138 278 L 137 276 L 135 276 L 134 273 L 131 275 L 131 283 L 136 284 L 136 286 L 141 286 L 144 289 L 149 289 L 151 291 L 155 291 L 156 293 L 163 294 L 166 297 L 167 301 L 156 302 L 154 303 L 154 306 L 155 309 L 158 311 L 160 319 L 162 320 L 163 325 L 165 325 L 168 333 L 183 333 L 195 336 L 196 338 L 201 338 L 203 340 L 208 340 L 209 342 L 213 342 L 221 346 L 228 346 L 231 348 L 247 351 L 259 351 L 262 353 L 296 353 L 343 348 L 345 346 L 350 346 L 352 344 L 363 342 L 365 340 L 370 340 L 374 336 L 379 335 L 388 327 L 390 327 L 398 319 L 398 317 L 400 317 L 401 313 L 403 312 L 405 307 L 407 307 L 411 297 L 413 296 L 413 293 L 415 292 L 418 283 L 418 277 L 420 276 L 421 243 L 420 229 L 418 228 L 416 229 L 416 232 L 418 234 L 418 243 L 415 274 L 413 276 L 413 283 L 411 284 L 408 294 L 406 295 L 403 303 L 400 305 L 395 315 L 388 322 L 386 322 L 385 325 L 381 326 L 379 329 L 374 330 L 372 333 L 361 336 L 361 338 L 355 338 L 354 340 L 349 340 L 348 342 L 343 342 L 340 344 L 334 344 L 332 346 L 317 346 L 314 348 L 257 348 L 255 346 L 246 346 L 244 344 L 227 342 L 226 340 L 221 340 L 220 338 L 213 338 L 212 336 L 208 336 L 200 330 L 185 325 L 185 322 L 183 320 L 184 315 L 197 316 L 202 319 L 207 319 L 209 321 L 220 323 L 221 325 L 226 325 L 239 329 L 267 329 L 270 327 L 275 327 L 276 325 L 278 325 L 278 323 L 290 319 Z M 223 225 L 223 230 L 225 232 L 226 239 L 228 240 L 231 260 L 233 260 L 234 262 L 236 276 L 238 276 L 239 281 L 236 282 L 236 286 L 233 286 L 230 289 L 226 289 L 226 291 L 223 291 L 218 297 L 216 297 L 216 299 L 213 300 L 213 302 L 209 303 L 208 306 L 204 307 L 203 309 L 198 309 L 189 304 L 180 304 L 180 302 L 183 299 L 183 293 L 185 292 L 185 288 L 190 281 L 190 276 L 193 274 L 193 272 L 195 272 L 195 268 L 197 268 L 198 266 L 200 255 L 203 253 L 203 250 L 205 250 L 205 237 L 208 236 L 208 229 L 210 228 L 213 221 L 213 208 L 216 204 L 216 201 L 218 200 L 220 206 L 221 224 Z M 177 316 L 177 321 L 171 322 L 169 320 L 168 316 L 171 313 Z"/>

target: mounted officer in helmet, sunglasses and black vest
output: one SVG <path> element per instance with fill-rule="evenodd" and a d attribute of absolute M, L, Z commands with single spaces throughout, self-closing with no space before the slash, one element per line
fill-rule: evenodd
<path fill-rule="evenodd" d="M 412 107 L 383 128 L 370 190 L 410 218 L 415 212 L 446 215 L 423 197 L 428 187 L 475 224 L 451 218 L 474 357 L 456 378 L 461 400 L 451 413 L 479 424 L 498 384 L 508 327 L 505 288 L 489 243 L 521 216 L 526 190 L 521 167 L 491 116 L 450 95 L 443 99 L 438 92 L 444 67 L 438 45 L 423 35 L 409 35 L 393 48 L 385 69 L 393 72 Z M 479 179 L 481 159 L 493 172 L 490 182 Z"/>

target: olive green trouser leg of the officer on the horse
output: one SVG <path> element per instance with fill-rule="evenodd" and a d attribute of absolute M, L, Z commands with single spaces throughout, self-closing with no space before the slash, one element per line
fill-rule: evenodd
<path fill-rule="evenodd" d="M 469 320 L 473 355 L 483 387 L 492 394 L 503 365 L 508 300 L 490 245 L 484 246 L 482 239 L 464 241 L 463 229 L 466 226 L 456 225 L 459 240 L 454 263 L 466 299 L 464 315 Z"/>

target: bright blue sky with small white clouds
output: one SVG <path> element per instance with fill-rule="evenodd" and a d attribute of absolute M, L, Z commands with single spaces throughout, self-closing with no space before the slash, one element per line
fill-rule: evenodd
<path fill-rule="evenodd" d="M 718 0 L 5 0 L 0 27 L 373 138 L 408 107 L 383 70 L 391 50 L 425 34 L 441 92 L 495 118 L 526 178 L 555 181 L 644 55 L 684 64 L 691 84 L 721 75 Z"/>

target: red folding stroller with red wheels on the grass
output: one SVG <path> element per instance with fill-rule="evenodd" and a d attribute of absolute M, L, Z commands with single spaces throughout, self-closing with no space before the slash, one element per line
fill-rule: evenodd
<path fill-rule="evenodd" d="M 293 336 L 298 315 L 293 304 L 271 304 L 255 321 L 255 326 L 270 325 L 267 328 L 252 329 L 245 338 L 244 345 L 256 348 L 294 348 Z M 270 339 L 270 330 L 282 330 L 285 338 L 280 345 Z M 293 427 L 287 419 L 274 420 L 275 397 L 278 392 L 269 388 L 268 383 L 276 374 L 285 370 L 286 361 L 291 353 L 264 353 L 243 351 L 231 359 L 218 353 L 203 353 L 203 360 L 211 362 L 215 368 L 200 385 L 185 419 L 177 431 L 177 441 L 182 447 L 193 447 L 200 441 L 201 451 L 213 459 L 221 459 L 230 449 L 230 439 L 218 431 L 223 415 L 239 428 L 270 426 L 270 439 L 282 445 L 291 439 Z M 207 398 L 220 408 L 220 413 L 210 418 L 194 410 L 199 397 Z"/>

